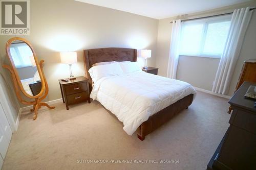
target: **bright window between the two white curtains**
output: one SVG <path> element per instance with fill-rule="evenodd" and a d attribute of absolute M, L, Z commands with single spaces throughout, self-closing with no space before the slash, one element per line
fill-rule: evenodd
<path fill-rule="evenodd" d="M 220 58 L 226 43 L 231 15 L 182 23 L 180 55 Z"/>

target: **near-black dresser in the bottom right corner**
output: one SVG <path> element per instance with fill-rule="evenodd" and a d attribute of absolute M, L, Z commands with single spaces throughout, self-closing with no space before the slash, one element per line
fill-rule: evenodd
<path fill-rule="evenodd" d="M 254 100 L 244 98 L 250 85 L 244 82 L 229 100 L 233 112 L 229 128 L 219 144 L 207 170 L 256 169 L 256 107 Z"/>

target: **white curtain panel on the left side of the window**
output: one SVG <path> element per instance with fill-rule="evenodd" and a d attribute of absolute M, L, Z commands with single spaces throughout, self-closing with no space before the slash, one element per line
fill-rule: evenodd
<path fill-rule="evenodd" d="M 181 19 L 173 21 L 172 37 L 170 39 L 170 51 L 167 68 L 167 77 L 176 79 L 177 66 L 179 62 L 179 41 L 181 32 Z"/>

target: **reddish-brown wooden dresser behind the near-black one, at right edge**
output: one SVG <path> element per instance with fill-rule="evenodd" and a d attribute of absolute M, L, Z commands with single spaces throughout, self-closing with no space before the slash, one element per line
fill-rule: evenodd
<path fill-rule="evenodd" d="M 236 92 L 245 81 L 256 82 L 256 59 L 249 59 L 244 62 L 244 65 L 241 70 L 241 74 L 239 76 L 238 83 L 234 92 Z M 228 113 L 230 113 L 231 110 L 232 110 L 232 107 L 230 106 L 228 109 Z"/>

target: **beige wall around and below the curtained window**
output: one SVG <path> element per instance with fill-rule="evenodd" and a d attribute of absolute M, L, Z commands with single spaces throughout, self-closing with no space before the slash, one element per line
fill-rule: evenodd
<path fill-rule="evenodd" d="M 233 12 L 236 8 L 242 8 L 247 6 L 256 6 L 256 1 L 232 5 L 229 7 L 219 8 L 215 10 L 209 10 L 194 14 L 188 14 L 183 16 L 165 18 L 159 20 L 158 26 L 158 39 L 157 39 L 157 60 L 156 66 L 159 67 L 159 75 L 167 75 L 167 62 L 169 55 L 170 37 L 172 33 L 172 24 L 170 21 L 173 19 L 189 19 L 203 16 L 210 16 L 222 13 Z M 242 45 L 241 54 L 237 62 L 236 70 L 234 71 L 229 93 L 232 95 L 236 83 L 239 78 L 240 71 L 242 69 L 243 61 L 249 58 L 256 58 L 256 12 L 254 11 L 248 26 L 244 43 Z M 177 79 L 186 81 L 193 86 L 211 90 L 212 83 L 214 82 L 216 71 L 218 69 L 218 63 L 220 59 L 205 58 L 205 57 L 191 57 L 181 56 L 179 59 Z"/>

